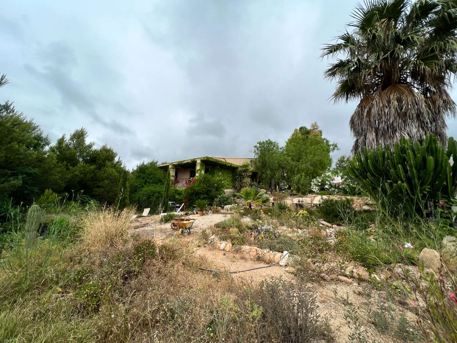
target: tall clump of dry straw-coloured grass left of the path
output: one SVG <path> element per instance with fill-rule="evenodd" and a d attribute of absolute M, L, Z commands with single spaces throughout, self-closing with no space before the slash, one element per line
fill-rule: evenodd
<path fill-rule="evenodd" d="M 117 246 L 127 236 L 128 224 L 134 210 L 131 208 L 116 211 L 105 208 L 101 211 L 89 212 L 81 220 L 82 244 L 92 250 L 103 250 Z"/>

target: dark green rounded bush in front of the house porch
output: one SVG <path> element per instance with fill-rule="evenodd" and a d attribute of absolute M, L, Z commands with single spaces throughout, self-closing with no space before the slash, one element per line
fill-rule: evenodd
<path fill-rule="evenodd" d="M 203 199 L 208 204 L 224 193 L 224 185 L 220 178 L 208 174 L 202 174 L 195 179 L 195 182 L 184 189 L 184 198 L 187 199 L 187 206 L 193 206 L 197 200 Z"/>

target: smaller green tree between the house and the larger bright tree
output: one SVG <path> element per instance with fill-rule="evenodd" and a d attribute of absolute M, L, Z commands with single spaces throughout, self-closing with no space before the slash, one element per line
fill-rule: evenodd
<path fill-rule="evenodd" d="M 280 184 L 285 177 L 283 148 L 277 142 L 267 139 L 254 146 L 254 168 L 257 178 L 265 186 L 271 181 Z"/>

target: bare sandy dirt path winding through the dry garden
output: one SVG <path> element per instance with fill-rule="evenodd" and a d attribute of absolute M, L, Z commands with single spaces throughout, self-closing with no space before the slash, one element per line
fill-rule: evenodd
<path fill-rule="evenodd" d="M 230 214 L 205 214 L 203 217 L 198 215 L 188 216 L 195 218 L 196 221 L 191 229 L 191 236 L 185 235 L 179 237 L 179 239 L 189 241 L 194 245 L 194 252 L 197 257 L 203 258 L 207 261 L 208 265 L 213 266 L 214 269 L 220 269 L 225 271 L 239 271 L 244 269 L 250 269 L 255 267 L 265 267 L 268 264 L 261 261 L 247 259 L 241 254 L 234 253 L 232 251 L 225 252 L 218 249 L 214 249 L 210 246 L 202 246 L 201 243 L 197 244 L 199 235 L 203 230 L 211 230 L 213 225 L 228 219 Z M 170 228 L 170 223 L 159 223 L 159 216 L 149 216 L 138 218 L 132 222 L 130 227 L 130 234 L 138 234 L 140 236 L 154 236 L 154 239 L 158 243 L 169 241 L 177 237 L 177 232 Z M 255 269 L 242 273 L 231 273 L 229 274 L 232 278 L 237 280 L 242 279 L 253 279 L 255 281 L 261 281 L 269 279 L 271 277 L 282 276 L 283 279 L 294 282 L 295 276 L 293 275 L 293 267 L 275 265 L 268 268 Z M 348 335 L 351 330 L 346 324 L 345 313 L 347 309 L 336 300 L 335 294 L 338 297 L 345 297 L 349 295 L 349 300 L 357 307 L 363 308 L 364 302 L 367 301 L 364 290 L 372 288 L 367 283 L 358 284 L 345 284 L 339 281 L 327 281 L 316 284 L 310 284 L 310 286 L 316 290 L 316 299 L 319 305 L 319 314 L 329 318 L 330 327 L 333 330 L 335 342 L 349 342 Z M 376 292 L 376 291 L 374 291 Z M 360 311 L 362 314 L 363 312 Z M 406 313 L 410 320 L 414 320 L 412 313 Z M 363 314 L 360 316 L 362 321 L 368 320 Z M 377 333 L 374 327 L 367 322 L 363 323 L 364 327 L 368 328 L 372 334 L 374 342 L 399 342 L 398 339 L 385 337 Z"/>

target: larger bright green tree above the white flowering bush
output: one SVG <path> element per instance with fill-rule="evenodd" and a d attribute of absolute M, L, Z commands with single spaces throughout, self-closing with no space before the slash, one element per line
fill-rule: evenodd
<path fill-rule="evenodd" d="M 338 149 L 322 137 L 317 123 L 312 129 L 295 129 L 284 147 L 285 181 L 298 193 L 308 193 L 311 181 L 332 166 L 330 153 Z"/>

